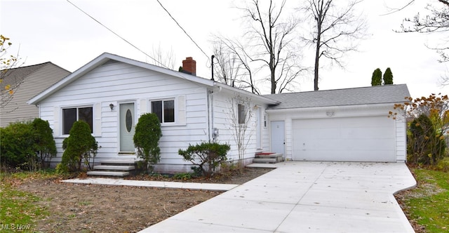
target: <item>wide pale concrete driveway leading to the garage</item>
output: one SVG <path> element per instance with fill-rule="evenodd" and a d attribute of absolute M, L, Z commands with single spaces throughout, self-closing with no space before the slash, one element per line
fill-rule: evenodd
<path fill-rule="evenodd" d="M 403 163 L 285 162 L 141 232 L 413 232 Z"/>

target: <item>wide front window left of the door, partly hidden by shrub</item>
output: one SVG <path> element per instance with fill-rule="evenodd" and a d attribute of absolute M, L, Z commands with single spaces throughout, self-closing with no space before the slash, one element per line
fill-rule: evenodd
<path fill-rule="evenodd" d="M 93 126 L 93 109 L 92 107 L 73 107 L 62 109 L 62 133 L 69 134 L 75 121 L 86 121 L 91 128 Z"/>

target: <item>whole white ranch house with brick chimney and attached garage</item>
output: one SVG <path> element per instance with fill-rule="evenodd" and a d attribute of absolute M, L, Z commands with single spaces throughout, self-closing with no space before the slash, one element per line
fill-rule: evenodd
<path fill-rule="evenodd" d="M 178 149 L 209 140 L 228 143 L 229 159 L 238 159 L 230 125 L 245 107 L 236 98 L 249 100 L 253 112 L 246 164 L 256 152 L 278 152 L 294 161 L 406 160 L 406 123 L 387 118 L 394 103 L 410 96 L 405 84 L 254 95 L 195 76 L 192 58 L 183 68 L 190 74 L 103 53 L 29 100 L 53 128 L 53 163 L 60 162 L 62 140 L 79 119 L 90 124 L 101 146 L 95 163 L 137 158 L 133 131 L 147 112 L 161 119 L 156 171 L 191 171 Z"/>

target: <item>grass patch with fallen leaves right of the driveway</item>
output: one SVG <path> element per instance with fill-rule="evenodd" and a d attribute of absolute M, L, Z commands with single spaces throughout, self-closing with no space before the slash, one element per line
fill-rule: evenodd
<path fill-rule="evenodd" d="M 449 232 L 449 173 L 424 168 L 410 168 L 417 188 L 404 195 L 403 205 L 410 220 L 426 232 Z"/>

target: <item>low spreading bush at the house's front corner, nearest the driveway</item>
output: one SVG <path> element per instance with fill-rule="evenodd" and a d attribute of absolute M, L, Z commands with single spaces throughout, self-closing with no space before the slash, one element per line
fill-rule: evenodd
<path fill-rule="evenodd" d="M 216 172 L 218 166 L 227 161 L 226 154 L 229 152 L 229 145 L 218 142 L 201 142 L 197 145 L 189 145 L 187 149 L 179 149 L 178 154 L 185 161 L 190 161 L 196 165 L 192 167 L 195 173 L 210 177 Z"/>

